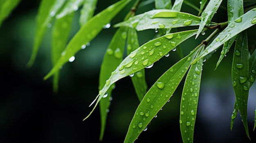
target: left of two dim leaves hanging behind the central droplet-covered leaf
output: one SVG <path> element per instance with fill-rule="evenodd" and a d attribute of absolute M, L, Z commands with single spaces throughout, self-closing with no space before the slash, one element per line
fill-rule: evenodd
<path fill-rule="evenodd" d="M 115 35 L 113 36 L 101 64 L 101 70 L 99 75 L 99 90 L 103 88 L 106 84 L 106 80 L 111 75 L 111 72 L 117 68 L 117 66 L 122 62 L 124 56 L 124 47 L 126 43 L 128 27 L 120 27 Z M 112 85 L 114 86 L 114 85 Z M 106 120 L 108 115 L 108 109 L 110 106 L 110 100 L 112 98 L 111 92 L 112 88 L 109 88 L 107 93 L 108 96 L 101 99 L 99 103 L 100 113 L 101 113 L 101 134 L 99 140 L 103 139 Z"/>

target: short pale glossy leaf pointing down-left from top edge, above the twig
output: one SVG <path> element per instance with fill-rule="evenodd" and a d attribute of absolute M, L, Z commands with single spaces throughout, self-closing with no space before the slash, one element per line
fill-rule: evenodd
<path fill-rule="evenodd" d="M 204 26 L 209 26 L 211 24 L 211 19 L 213 18 L 213 15 L 220 7 L 222 0 L 210 0 L 207 6 L 205 7 L 204 11 L 202 12 L 202 20 L 200 22 L 198 33 L 195 36 L 195 39 L 198 37 L 198 35 L 202 32 Z"/>

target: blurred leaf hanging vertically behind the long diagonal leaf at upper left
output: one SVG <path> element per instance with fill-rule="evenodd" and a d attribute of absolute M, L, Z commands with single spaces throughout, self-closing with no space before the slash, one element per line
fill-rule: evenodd
<path fill-rule="evenodd" d="M 68 40 L 71 26 L 72 26 L 73 16 L 74 16 L 74 13 L 70 13 L 70 15 L 66 15 L 63 18 L 56 19 L 54 22 L 54 26 L 52 29 L 52 65 L 53 66 L 61 57 L 61 53 L 67 44 L 67 40 Z M 59 70 L 56 73 L 54 73 L 53 91 L 55 93 L 58 92 L 59 73 L 60 73 Z"/>

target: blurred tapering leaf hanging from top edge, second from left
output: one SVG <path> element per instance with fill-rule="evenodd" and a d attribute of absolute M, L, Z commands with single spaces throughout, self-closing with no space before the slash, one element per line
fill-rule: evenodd
<path fill-rule="evenodd" d="M 38 10 L 38 15 L 36 18 L 36 36 L 33 45 L 33 51 L 27 66 L 32 66 L 36 59 L 36 55 L 40 44 L 45 35 L 45 30 L 52 26 L 51 21 L 55 14 L 62 7 L 65 0 L 42 0 Z"/>

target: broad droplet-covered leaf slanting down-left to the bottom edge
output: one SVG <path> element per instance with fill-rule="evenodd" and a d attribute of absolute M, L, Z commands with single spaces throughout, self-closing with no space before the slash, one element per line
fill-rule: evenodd
<path fill-rule="evenodd" d="M 195 58 L 198 49 L 169 68 L 148 90 L 137 107 L 130 123 L 124 143 L 134 142 L 139 134 L 147 127 L 157 112 L 166 104 L 175 92 L 180 81 L 186 74 L 191 61 Z"/>

